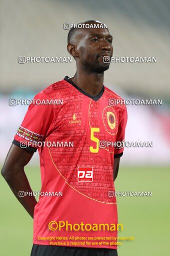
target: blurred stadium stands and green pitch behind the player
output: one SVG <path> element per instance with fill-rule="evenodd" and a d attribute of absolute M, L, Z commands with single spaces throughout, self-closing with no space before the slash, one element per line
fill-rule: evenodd
<path fill-rule="evenodd" d="M 28 106 L 9 106 L 10 98 L 33 98 L 46 86 L 72 76 L 72 63 L 18 64 L 18 56 L 69 57 L 64 23 L 98 20 L 113 35 L 115 56 L 153 56 L 156 63 L 111 63 L 104 85 L 128 99 L 162 99 L 162 105 L 128 105 L 126 141 L 152 141 L 152 148 L 126 148 L 115 182 L 117 191 L 152 191 L 150 198 L 118 197 L 121 236 L 134 236 L 119 256 L 168 255 L 170 166 L 170 1 L 169 0 L 0 0 L 0 164 Z M 40 189 L 38 153 L 26 167 L 33 191 Z M 3 256 L 27 256 L 32 220 L 5 181 L 1 187 Z M 96 213 L 97 214 L 97 213 Z"/>

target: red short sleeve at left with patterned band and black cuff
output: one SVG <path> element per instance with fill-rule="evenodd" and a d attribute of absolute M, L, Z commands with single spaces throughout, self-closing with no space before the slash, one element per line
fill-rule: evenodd
<path fill-rule="evenodd" d="M 14 145 L 36 152 L 39 142 L 44 141 L 50 134 L 54 119 L 53 105 L 46 102 L 49 99 L 45 93 L 39 92 L 35 95 L 14 136 Z"/>

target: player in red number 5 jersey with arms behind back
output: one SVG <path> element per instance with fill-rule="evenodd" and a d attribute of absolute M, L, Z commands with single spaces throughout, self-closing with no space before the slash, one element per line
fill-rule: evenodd
<path fill-rule="evenodd" d="M 117 236 L 117 229 L 110 228 L 117 224 L 113 180 L 123 147 L 111 143 L 124 140 L 127 112 L 125 105 L 109 104 L 121 98 L 103 85 L 109 68 L 103 58 L 113 52 L 109 30 L 93 28 L 101 25 L 98 21 L 80 24 L 90 28 L 72 28 L 67 38 L 75 75 L 34 97 L 62 104 L 29 105 L 1 171 L 33 218 L 31 256 L 117 255 L 116 238 L 108 237 Z M 62 196 L 40 194 L 36 202 L 32 195 L 24 166 L 37 149 L 41 192 L 60 191 Z M 20 197 L 19 191 L 30 193 Z"/>

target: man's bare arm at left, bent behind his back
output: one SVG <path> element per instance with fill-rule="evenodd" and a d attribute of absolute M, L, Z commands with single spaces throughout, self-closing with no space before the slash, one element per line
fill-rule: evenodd
<path fill-rule="evenodd" d="M 35 197 L 33 195 L 19 196 L 19 191 L 32 192 L 24 172 L 24 166 L 30 161 L 32 155 L 33 152 L 12 144 L 2 167 L 1 174 L 15 197 L 33 218 L 34 207 L 37 203 Z"/>

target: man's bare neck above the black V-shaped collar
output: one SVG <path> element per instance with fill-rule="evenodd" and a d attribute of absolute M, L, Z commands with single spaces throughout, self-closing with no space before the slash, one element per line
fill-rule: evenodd
<path fill-rule="evenodd" d="M 75 75 L 70 78 L 79 88 L 92 96 L 96 96 L 102 89 L 104 74 L 103 73 L 85 73 L 76 71 Z"/>

